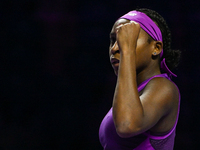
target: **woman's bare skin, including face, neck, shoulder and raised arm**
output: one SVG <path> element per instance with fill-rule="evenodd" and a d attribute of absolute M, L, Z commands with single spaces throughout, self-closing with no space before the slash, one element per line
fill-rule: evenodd
<path fill-rule="evenodd" d="M 120 137 L 149 130 L 159 135 L 174 126 L 179 103 L 177 87 L 168 79 L 153 78 L 138 93 L 137 86 L 160 74 L 161 41 L 148 42 L 149 35 L 136 22 L 119 19 L 110 33 L 109 55 L 117 75 L 113 119 Z M 154 54 L 156 52 L 156 54 Z"/>

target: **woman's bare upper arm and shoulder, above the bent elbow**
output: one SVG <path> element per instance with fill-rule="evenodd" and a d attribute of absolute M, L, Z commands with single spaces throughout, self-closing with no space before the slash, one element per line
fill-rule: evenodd
<path fill-rule="evenodd" d="M 151 129 L 172 111 L 177 93 L 176 86 L 165 78 L 154 78 L 147 84 L 140 96 L 144 111 L 140 132 Z"/>

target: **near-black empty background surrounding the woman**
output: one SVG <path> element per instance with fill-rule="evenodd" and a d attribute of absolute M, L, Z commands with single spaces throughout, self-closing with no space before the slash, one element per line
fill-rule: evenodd
<path fill-rule="evenodd" d="M 199 149 L 199 0 L 1 0 L 0 149 L 101 150 L 116 76 L 109 32 L 136 7 L 159 12 L 183 52 L 175 150 Z"/>

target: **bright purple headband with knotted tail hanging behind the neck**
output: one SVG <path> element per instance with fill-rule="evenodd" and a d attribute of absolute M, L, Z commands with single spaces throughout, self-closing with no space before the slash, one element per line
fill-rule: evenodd
<path fill-rule="evenodd" d="M 149 18 L 145 13 L 134 10 L 134 11 L 130 11 L 129 13 L 123 15 L 119 19 L 122 19 L 122 18 L 132 20 L 132 21 L 139 23 L 140 27 L 145 32 L 147 32 L 155 41 L 163 42 L 162 41 L 162 33 L 161 33 L 160 29 L 153 22 L 153 20 L 151 20 L 151 18 Z M 162 58 L 162 56 L 163 56 L 163 50 L 160 53 L 160 58 Z M 172 73 L 171 70 L 169 70 L 169 68 L 167 67 L 167 65 L 165 63 L 165 58 L 162 59 L 161 64 L 160 64 L 160 68 L 163 71 L 167 72 L 167 74 L 170 76 L 170 78 L 172 76 L 177 77 L 177 75 Z"/>

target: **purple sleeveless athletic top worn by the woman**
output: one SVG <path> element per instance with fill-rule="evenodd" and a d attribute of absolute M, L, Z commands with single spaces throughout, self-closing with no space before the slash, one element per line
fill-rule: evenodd
<path fill-rule="evenodd" d="M 138 86 L 140 92 L 147 83 L 155 77 L 164 77 L 171 81 L 168 75 L 159 74 L 155 75 Z M 178 87 L 177 87 L 178 88 Z M 118 136 L 112 117 L 112 108 L 106 114 L 101 122 L 99 129 L 99 140 L 104 150 L 173 150 L 175 129 L 178 121 L 180 109 L 180 93 L 179 93 L 179 108 L 177 113 L 176 123 L 173 128 L 165 135 L 154 136 L 148 131 L 131 138 L 121 138 Z"/>

